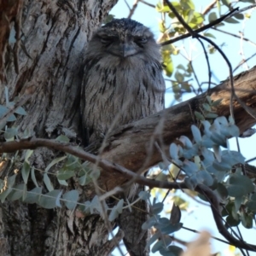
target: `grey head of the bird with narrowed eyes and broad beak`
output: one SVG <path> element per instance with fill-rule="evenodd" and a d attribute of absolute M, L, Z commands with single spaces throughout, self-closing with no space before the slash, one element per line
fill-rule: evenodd
<path fill-rule="evenodd" d="M 114 19 L 96 31 L 87 52 L 95 56 L 132 57 L 160 61 L 159 47 L 148 27 L 131 19 Z"/>

